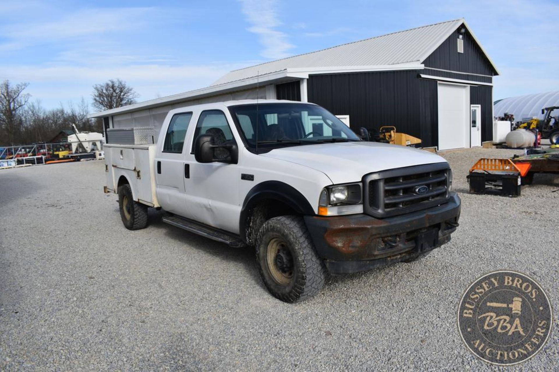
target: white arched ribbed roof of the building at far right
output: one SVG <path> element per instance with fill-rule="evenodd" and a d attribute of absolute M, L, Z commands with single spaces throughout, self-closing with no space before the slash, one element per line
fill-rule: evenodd
<path fill-rule="evenodd" d="M 511 113 L 517 121 L 528 117 L 543 119 L 542 108 L 550 106 L 559 106 L 559 90 L 501 99 L 494 104 L 493 111 L 495 116 Z"/>

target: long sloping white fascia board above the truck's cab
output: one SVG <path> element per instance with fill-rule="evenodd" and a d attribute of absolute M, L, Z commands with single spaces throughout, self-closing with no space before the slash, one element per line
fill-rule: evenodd
<path fill-rule="evenodd" d="M 288 77 L 287 70 L 275 71 L 273 73 L 259 75 L 258 77 L 236 80 L 235 82 L 224 83 L 219 85 L 210 85 L 210 87 L 191 90 L 190 92 L 173 94 L 173 96 L 150 99 L 149 101 L 130 104 L 128 106 L 123 106 L 119 108 L 113 108 L 107 111 L 95 112 L 89 114 L 87 117 L 100 118 L 100 117 L 117 115 L 126 112 L 138 111 L 141 109 L 163 106 L 166 104 L 173 104 L 173 103 L 184 101 L 189 98 L 195 99 L 195 98 L 202 98 L 204 96 L 214 96 L 215 94 L 228 93 L 230 91 L 238 90 L 238 88 L 240 87 L 247 88 L 250 85 L 255 86 L 257 84 L 263 84 L 266 82 L 270 82 L 271 80 L 276 80 L 276 79 L 281 79 L 286 77 Z"/>

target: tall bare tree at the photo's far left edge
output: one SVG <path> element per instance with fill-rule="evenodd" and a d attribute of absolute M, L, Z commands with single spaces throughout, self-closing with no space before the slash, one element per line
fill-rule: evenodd
<path fill-rule="evenodd" d="M 31 95 L 23 93 L 29 83 L 11 85 L 10 80 L 4 80 L 0 84 L 0 127 L 4 131 L 6 144 L 14 144 L 18 140 L 18 133 L 21 132 L 22 118 L 19 111 L 25 106 Z"/>

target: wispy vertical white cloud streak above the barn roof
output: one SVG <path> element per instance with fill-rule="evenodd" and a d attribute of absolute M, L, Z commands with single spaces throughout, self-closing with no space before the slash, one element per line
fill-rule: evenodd
<path fill-rule="evenodd" d="M 260 53 L 265 58 L 285 58 L 290 56 L 288 53 L 293 45 L 287 40 L 284 32 L 274 28 L 281 26 L 277 13 L 276 0 L 239 0 L 241 11 L 247 17 L 247 21 L 252 25 L 247 28 L 249 32 L 259 36 L 260 44 L 264 50 Z"/>

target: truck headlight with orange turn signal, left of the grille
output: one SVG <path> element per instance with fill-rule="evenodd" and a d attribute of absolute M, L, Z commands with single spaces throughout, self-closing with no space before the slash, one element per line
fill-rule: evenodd
<path fill-rule="evenodd" d="M 320 216 L 339 216 L 363 212 L 361 183 L 328 186 L 319 198 Z"/>

